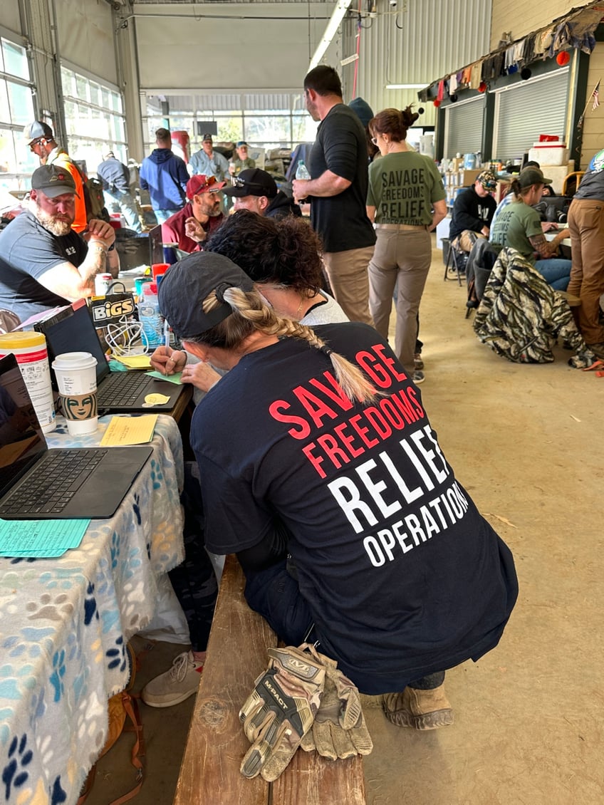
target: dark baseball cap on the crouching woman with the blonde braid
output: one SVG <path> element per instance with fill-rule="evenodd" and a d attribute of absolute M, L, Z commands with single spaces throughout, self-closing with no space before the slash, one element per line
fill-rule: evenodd
<path fill-rule="evenodd" d="M 253 291 L 254 282 L 239 266 L 222 254 L 193 252 L 175 262 L 159 284 L 159 309 L 176 335 L 195 338 L 220 324 L 233 312 L 222 299 L 227 288 Z M 216 291 L 221 305 L 205 313 L 202 303 Z"/>

